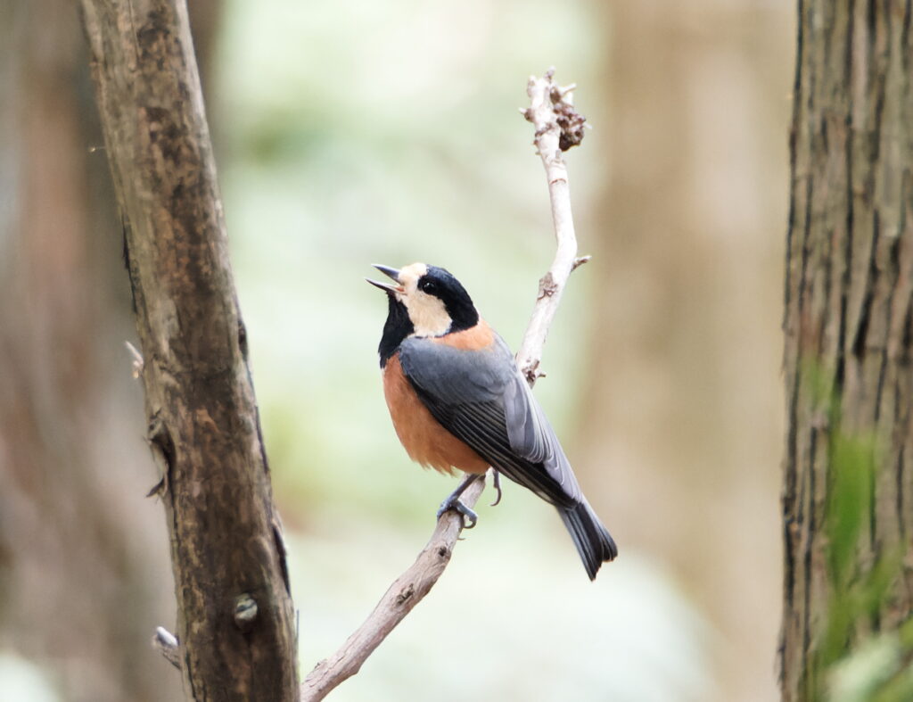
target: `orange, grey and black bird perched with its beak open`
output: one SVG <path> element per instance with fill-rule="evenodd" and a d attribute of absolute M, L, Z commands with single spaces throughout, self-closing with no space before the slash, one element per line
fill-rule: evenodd
<path fill-rule="evenodd" d="M 491 466 L 496 477 L 503 473 L 558 509 L 593 580 L 618 550 L 583 498 L 508 345 L 444 268 L 374 267 L 394 280 L 368 282 L 385 291 L 389 303 L 378 352 L 396 435 L 423 466 L 467 474 L 438 516 L 456 509 L 475 526 L 475 513 L 459 496 Z"/>

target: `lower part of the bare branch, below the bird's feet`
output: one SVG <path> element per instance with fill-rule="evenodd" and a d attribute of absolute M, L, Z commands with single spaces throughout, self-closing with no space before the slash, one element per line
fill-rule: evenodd
<path fill-rule="evenodd" d="M 460 498 L 468 508 L 476 504 L 485 489 L 485 481 L 477 480 L 467 487 Z M 371 615 L 355 630 L 335 654 L 310 672 L 301 685 L 301 702 L 314 702 L 326 697 L 343 680 L 358 673 L 364 661 L 383 642 L 425 597 L 444 572 L 456 540 L 463 530 L 463 516 L 447 511 L 437 520 L 435 532 L 415 563 L 396 579 L 374 607 Z"/>

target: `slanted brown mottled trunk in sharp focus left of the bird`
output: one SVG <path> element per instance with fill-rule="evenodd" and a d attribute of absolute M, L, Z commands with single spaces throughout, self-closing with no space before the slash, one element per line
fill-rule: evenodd
<path fill-rule="evenodd" d="M 296 637 L 183 0 L 82 0 L 163 471 L 184 691 L 298 697 Z"/>

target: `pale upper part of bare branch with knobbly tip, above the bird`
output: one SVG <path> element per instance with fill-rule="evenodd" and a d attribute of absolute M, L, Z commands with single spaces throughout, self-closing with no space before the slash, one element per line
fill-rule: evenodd
<path fill-rule="evenodd" d="M 551 320 L 554 319 L 568 278 L 574 268 L 590 258 L 577 257 L 577 236 L 573 230 L 568 172 L 561 156 L 561 152 L 576 146 L 582 140 L 584 118 L 573 108 L 572 90 L 575 86 L 561 88 L 554 83 L 553 77 L 554 68 L 546 71 L 542 78 L 530 77 L 527 86 L 530 107 L 523 110 L 523 116 L 535 127 L 533 143 L 542 159 L 542 165 L 545 166 L 551 200 L 551 220 L 558 243 L 551 267 L 539 281 L 536 305 L 517 352 L 517 365 L 530 385 L 542 375 L 539 371 L 542 347 L 545 345 Z"/>

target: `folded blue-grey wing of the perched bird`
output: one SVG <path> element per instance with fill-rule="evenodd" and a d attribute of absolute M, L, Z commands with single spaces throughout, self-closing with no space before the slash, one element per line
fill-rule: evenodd
<path fill-rule="evenodd" d="M 500 337 L 481 351 L 407 339 L 399 358 L 432 416 L 498 471 L 551 504 L 581 500 L 558 437 Z"/>

